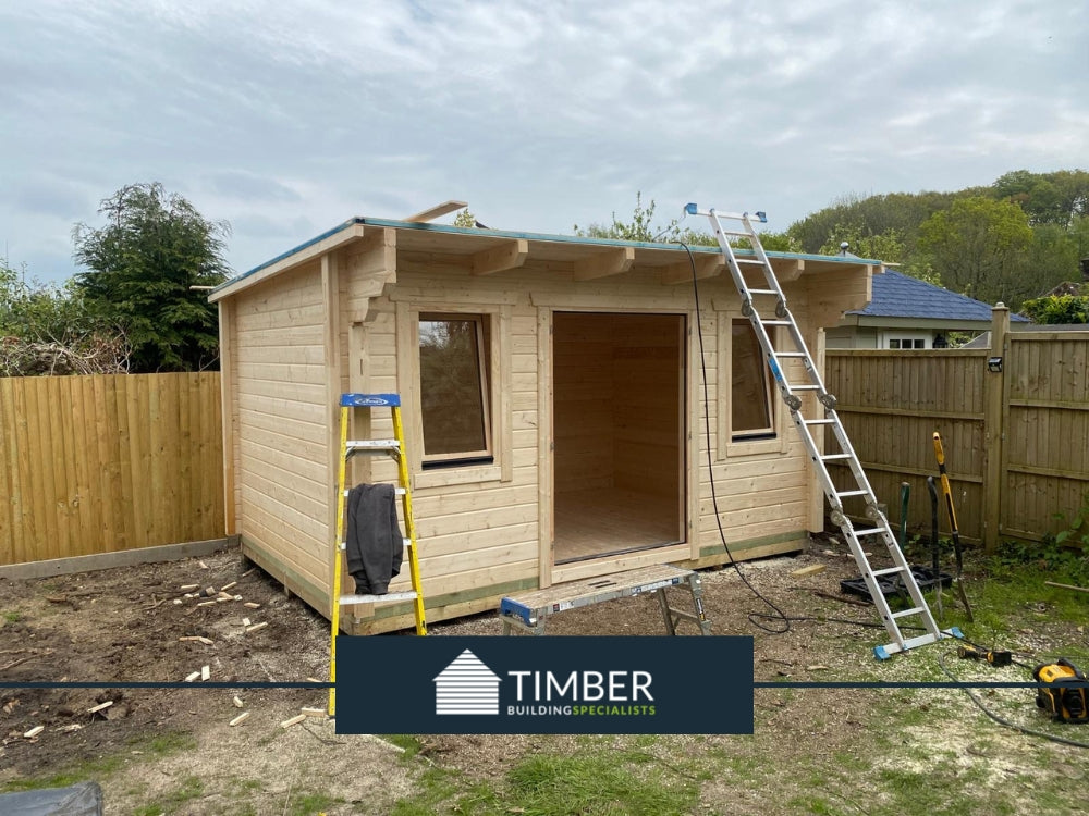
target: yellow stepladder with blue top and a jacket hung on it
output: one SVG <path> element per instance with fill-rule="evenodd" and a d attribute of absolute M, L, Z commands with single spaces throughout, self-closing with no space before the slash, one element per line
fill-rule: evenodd
<path fill-rule="evenodd" d="M 348 425 L 353 408 L 389 408 L 393 416 L 392 440 L 350 440 Z M 424 619 L 424 588 L 419 580 L 419 557 L 416 552 L 416 522 L 412 514 L 412 491 L 408 480 L 408 459 L 405 456 L 404 425 L 401 422 L 401 397 L 397 394 L 341 394 L 340 398 L 340 459 L 337 474 L 337 546 L 333 547 L 333 599 L 330 615 L 331 635 L 329 640 L 329 716 L 337 714 L 337 635 L 340 632 L 340 610 L 342 606 L 354 604 L 381 604 L 394 601 L 412 601 L 416 618 L 416 634 L 427 634 Z M 386 595 L 342 595 L 340 594 L 342 564 L 347 549 L 347 462 L 355 454 L 382 454 L 393 457 L 397 463 L 397 486 L 394 492 L 401 497 L 401 515 L 405 527 L 404 546 L 408 556 L 408 576 L 412 581 L 409 592 L 390 592 Z"/>

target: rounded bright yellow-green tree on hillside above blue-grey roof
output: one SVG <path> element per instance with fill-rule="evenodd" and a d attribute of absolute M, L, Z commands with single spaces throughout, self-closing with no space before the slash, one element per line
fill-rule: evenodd
<path fill-rule="evenodd" d="M 1035 284 L 1025 250 L 1032 228 L 1020 207 L 992 198 L 959 198 L 919 225 L 919 247 L 943 285 L 954 292 L 1017 308 Z"/>

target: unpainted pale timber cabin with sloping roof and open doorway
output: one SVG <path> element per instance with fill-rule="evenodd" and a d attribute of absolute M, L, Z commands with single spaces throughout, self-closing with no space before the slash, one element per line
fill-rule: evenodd
<path fill-rule="evenodd" d="M 769 256 L 821 359 L 822 329 L 866 305 L 874 262 Z M 227 532 L 327 616 L 342 392 L 402 396 L 432 622 L 623 569 L 729 561 L 708 444 L 735 558 L 796 551 L 823 528 L 717 248 L 689 260 L 675 244 L 358 218 L 210 298 Z M 392 435 L 389 411 L 365 415 L 353 438 Z M 352 467 L 353 483 L 396 481 L 392 461 Z M 407 567 L 390 589 L 407 589 Z M 341 619 L 352 633 L 413 622 L 408 603 Z"/>

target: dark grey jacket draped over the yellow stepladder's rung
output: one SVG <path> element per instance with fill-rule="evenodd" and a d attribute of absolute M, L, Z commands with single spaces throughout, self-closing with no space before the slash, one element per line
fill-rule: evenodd
<path fill-rule="evenodd" d="M 360 595 L 384 595 L 401 572 L 404 536 L 392 484 L 357 484 L 347 494 L 347 571 Z"/>

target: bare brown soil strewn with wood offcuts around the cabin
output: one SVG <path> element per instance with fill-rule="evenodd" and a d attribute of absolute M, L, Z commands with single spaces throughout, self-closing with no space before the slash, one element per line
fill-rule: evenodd
<path fill-rule="evenodd" d="M 824 569 L 793 574 L 810 565 Z M 772 610 L 732 568 L 701 573 L 714 632 L 754 635 L 757 680 L 872 678 L 879 670 L 870 646 L 884 640 L 883 630 L 827 619 L 877 620 L 872 606 L 852 605 L 852 596 L 841 594 L 840 579 L 857 573 L 846 548 L 834 539 L 821 539 L 797 557 L 747 562 L 742 569 L 786 615 L 810 618 L 793 621 L 786 632 L 762 631 L 757 625 L 779 630 L 783 621 L 750 617 Z M 216 597 L 232 583 L 227 589 L 231 599 L 200 605 L 209 597 L 185 597 L 204 588 L 212 589 Z M 247 631 L 244 618 L 250 626 L 267 626 Z M 551 619 L 548 631 L 639 635 L 662 634 L 664 627 L 657 601 L 637 596 L 563 613 Z M 489 614 L 432 623 L 430 632 L 500 635 L 502 627 Z M 323 680 L 328 648 L 326 619 L 237 551 L 51 579 L 0 580 L 4 682 L 182 681 L 205 666 L 211 680 Z M 698 702 L 714 705 L 713 678 L 706 680 L 707 698 Z M 157 798 L 173 802 L 163 808 L 171 813 L 233 813 L 232 802 L 243 793 L 252 813 L 286 813 L 292 796 L 297 800 L 307 791 L 342 803 L 323 807 L 329 814 L 386 813 L 414 789 L 428 762 L 469 778 L 497 780 L 519 756 L 542 750 L 541 738 L 427 735 L 421 738 L 424 758 L 406 764 L 389 743 L 337 735 L 320 717 L 286 729 L 280 726 L 302 707 L 323 707 L 322 690 L 235 691 L 199 684 L 198 679 L 193 690 L 0 689 L 0 782 L 72 767 L 94 769 L 103 758 L 121 757 L 124 772 L 111 768 L 101 775 L 108 813 L 131 813 L 137 803 Z M 107 702 L 112 705 L 90 713 Z M 767 750 L 772 756 L 788 751 L 792 743 L 805 743 L 810 753 L 842 759 L 856 750 L 856 731 L 865 719 L 859 695 L 851 690 L 821 690 L 819 696 L 758 691 L 756 706 L 756 738 L 707 738 L 703 750 L 707 744 L 747 744 L 750 753 Z M 244 722 L 228 725 L 243 712 L 250 714 Z M 39 726 L 36 735 L 26 735 Z M 181 750 L 163 747 L 166 738 Z M 690 750 L 693 739 L 703 740 L 663 738 L 660 747 L 682 754 Z M 972 739 L 969 732 L 963 742 Z M 564 738 L 549 738 L 548 750 L 564 751 Z M 200 780 L 197 793 L 176 801 L 179 788 L 193 778 Z M 718 812 L 715 784 L 703 790 L 709 812 Z M 175 800 L 169 799 L 172 795 Z M 726 812 L 760 812 L 759 801 L 746 804 L 736 789 L 731 795 Z"/>

